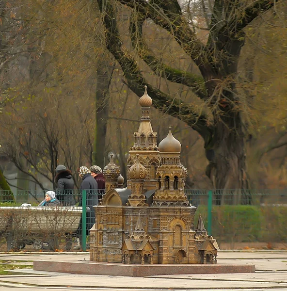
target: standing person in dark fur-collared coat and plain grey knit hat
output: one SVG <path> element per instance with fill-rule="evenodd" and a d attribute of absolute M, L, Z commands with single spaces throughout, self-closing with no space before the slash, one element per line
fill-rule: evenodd
<path fill-rule="evenodd" d="M 56 168 L 55 182 L 57 183 L 57 197 L 62 205 L 75 205 L 73 197 L 74 180 L 72 172 L 67 170 L 64 165 L 58 165 Z"/>

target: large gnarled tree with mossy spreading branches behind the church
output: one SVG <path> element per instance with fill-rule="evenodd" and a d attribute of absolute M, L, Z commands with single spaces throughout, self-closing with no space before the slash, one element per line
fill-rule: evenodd
<path fill-rule="evenodd" d="M 248 100 L 236 86 L 238 61 L 244 46 L 244 29 L 256 17 L 270 10 L 274 0 L 98 0 L 105 28 L 105 46 L 121 66 L 128 87 L 139 97 L 143 85 L 162 112 L 181 119 L 203 137 L 209 164 L 207 176 L 218 189 L 248 187 L 245 166 L 245 130 L 242 111 Z M 192 19 L 194 3 L 206 19 L 206 39 L 199 39 L 199 21 Z M 125 8 L 123 8 L 123 6 Z M 193 6 L 192 6 L 193 5 Z M 96 9 L 96 8 L 95 8 Z M 129 34 L 122 34 L 123 17 L 118 11 L 129 11 Z M 277 8 L 278 9 L 278 8 Z M 155 25 L 169 33 L 198 68 L 198 74 L 178 70 L 165 64 L 146 42 L 144 27 Z M 126 25 L 127 26 L 127 25 Z M 194 103 L 184 102 L 153 85 L 143 73 L 143 63 L 151 72 L 166 80 L 185 85 L 203 103 L 198 110 Z"/>

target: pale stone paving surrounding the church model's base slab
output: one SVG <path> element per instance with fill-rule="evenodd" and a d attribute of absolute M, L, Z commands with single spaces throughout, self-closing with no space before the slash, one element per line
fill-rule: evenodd
<path fill-rule="evenodd" d="M 89 260 L 89 253 L 0 254 L 0 260 L 11 261 L 12 264 L 19 260 L 81 261 Z M 17 270 L 16 275 L 0 276 L 0 291 L 287 291 L 287 251 L 220 251 L 218 263 L 254 264 L 256 273 L 126 277 L 26 269 Z"/>

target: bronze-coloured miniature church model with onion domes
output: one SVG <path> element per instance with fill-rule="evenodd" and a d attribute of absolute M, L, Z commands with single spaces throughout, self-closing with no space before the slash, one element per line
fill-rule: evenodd
<path fill-rule="evenodd" d="M 218 244 L 207 235 L 201 215 L 185 194 L 187 170 L 181 144 L 172 135 L 157 145 L 146 87 L 140 98 L 142 118 L 128 156 L 127 188 L 113 162 L 104 168 L 106 192 L 94 206 L 90 260 L 123 264 L 217 263 Z"/>

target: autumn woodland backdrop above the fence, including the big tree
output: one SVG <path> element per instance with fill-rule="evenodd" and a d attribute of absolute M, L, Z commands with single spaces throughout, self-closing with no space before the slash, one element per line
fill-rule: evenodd
<path fill-rule="evenodd" d="M 183 145 L 189 187 L 286 186 L 285 1 L 12 0 L 0 9 L 1 171 L 9 161 L 17 169 L 8 183 L 54 186 L 64 163 L 79 186 L 78 166 L 103 167 L 111 151 L 126 177 L 146 84 L 159 141 L 172 125 Z"/>

